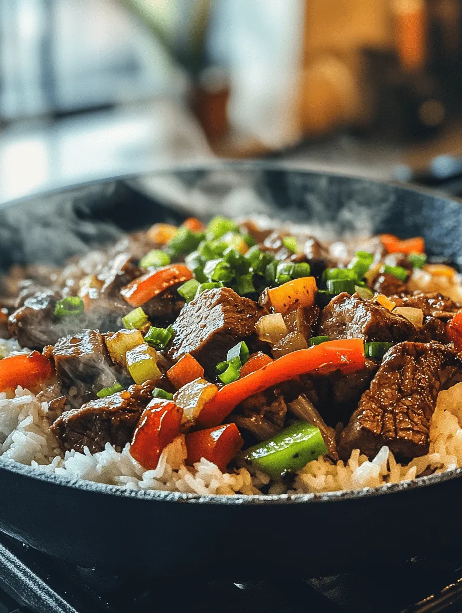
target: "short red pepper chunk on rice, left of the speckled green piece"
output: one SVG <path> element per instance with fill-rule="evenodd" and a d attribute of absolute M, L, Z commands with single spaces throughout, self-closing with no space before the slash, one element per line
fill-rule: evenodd
<path fill-rule="evenodd" d="M 188 466 L 205 458 L 216 464 L 221 472 L 225 471 L 226 465 L 244 445 L 236 424 L 225 424 L 218 428 L 191 432 L 185 436 L 185 442 L 188 451 Z"/>

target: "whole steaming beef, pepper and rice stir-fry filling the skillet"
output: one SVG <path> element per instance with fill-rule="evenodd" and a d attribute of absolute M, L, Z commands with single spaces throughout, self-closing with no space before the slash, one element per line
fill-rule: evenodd
<path fill-rule="evenodd" d="M 462 291 L 420 237 L 190 218 L 0 289 L 3 457 L 199 494 L 462 466 Z"/>

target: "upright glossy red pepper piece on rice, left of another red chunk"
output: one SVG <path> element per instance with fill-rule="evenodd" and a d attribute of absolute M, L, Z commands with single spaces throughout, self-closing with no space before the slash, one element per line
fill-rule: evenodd
<path fill-rule="evenodd" d="M 171 400 L 155 398 L 144 409 L 131 441 L 130 453 L 147 470 L 157 468 L 168 444 L 180 433 L 183 409 Z"/>

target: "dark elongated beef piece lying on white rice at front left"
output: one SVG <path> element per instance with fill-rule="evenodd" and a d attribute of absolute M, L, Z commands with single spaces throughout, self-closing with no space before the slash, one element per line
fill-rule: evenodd
<path fill-rule="evenodd" d="M 91 400 L 80 409 L 63 413 L 50 428 L 61 449 L 91 453 L 102 451 L 106 443 L 119 447 L 131 440 L 142 411 L 152 400 L 151 381 L 133 385 L 117 394 Z"/>

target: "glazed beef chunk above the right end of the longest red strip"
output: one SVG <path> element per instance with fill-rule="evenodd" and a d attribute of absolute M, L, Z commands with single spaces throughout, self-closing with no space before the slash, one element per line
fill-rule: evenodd
<path fill-rule="evenodd" d="M 399 343 L 415 335 L 414 326 L 381 305 L 343 292 L 323 309 L 318 334 L 331 340 L 363 338 L 365 341 Z"/>

